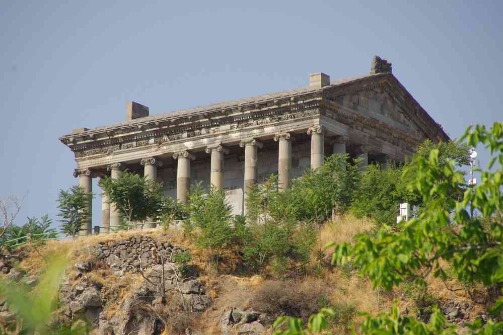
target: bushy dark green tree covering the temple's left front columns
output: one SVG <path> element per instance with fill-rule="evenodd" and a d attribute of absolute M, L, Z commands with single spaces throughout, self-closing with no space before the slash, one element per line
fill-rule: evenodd
<path fill-rule="evenodd" d="M 99 185 L 129 222 L 157 216 L 163 204 L 162 185 L 132 172 L 124 171 L 117 179 L 103 178 Z"/>

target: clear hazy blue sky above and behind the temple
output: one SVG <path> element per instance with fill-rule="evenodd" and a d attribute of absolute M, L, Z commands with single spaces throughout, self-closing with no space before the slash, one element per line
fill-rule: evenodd
<path fill-rule="evenodd" d="M 18 225 L 56 221 L 79 182 L 58 137 L 125 120 L 126 101 L 166 113 L 363 75 L 374 55 L 452 138 L 502 121 L 503 2 L 414 3 L 0 0 L 0 197 L 28 192 Z"/>

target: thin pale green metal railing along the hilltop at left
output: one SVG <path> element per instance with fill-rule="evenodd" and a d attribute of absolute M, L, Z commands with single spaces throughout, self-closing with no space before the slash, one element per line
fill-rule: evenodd
<path fill-rule="evenodd" d="M 174 225 L 179 226 L 183 221 L 190 221 L 189 219 L 183 219 L 183 220 L 173 220 L 170 221 L 170 226 Z M 138 230 L 143 229 L 145 225 L 151 225 L 151 224 L 156 224 L 157 227 L 160 227 L 161 221 L 154 221 L 154 222 L 142 222 L 142 223 L 131 223 L 131 222 L 126 222 L 123 225 L 118 225 L 118 226 L 95 226 L 94 229 L 82 229 L 81 231 L 89 231 L 90 233 L 85 236 L 93 236 L 92 232 L 94 230 L 94 235 L 98 235 L 101 233 L 100 230 L 103 230 L 103 233 L 109 234 L 109 233 L 116 233 L 119 231 L 128 231 L 128 230 L 136 230 L 134 227 L 140 227 Z M 131 228 L 133 227 L 133 228 Z M 25 236 L 13 238 L 10 240 L 7 240 L 4 242 L 4 245 L 8 247 L 16 247 L 22 244 L 25 244 L 30 241 L 50 241 L 50 240 L 61 240 L 64 238 L 69 238 L 69 235 L 66 235 L 60 231 L 51 231 L 51 232 L 46 232 L 46 233 L 40 233 L 40 234 L 26 234 Z"/>

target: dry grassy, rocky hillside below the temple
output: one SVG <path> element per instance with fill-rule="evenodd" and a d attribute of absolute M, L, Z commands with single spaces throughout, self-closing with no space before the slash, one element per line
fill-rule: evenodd
<path fill-rule="evenodd" d="M 489 295 L 478 292 L 474 302 L 463 291 L 450 291 L 428 279 L 427 296 L 417 296 L 412 283 L 390 292 L 373 289 L 350 265 L 330 265 L 329 241 L 351 242 L 357 233 L 371 233 L 373 224 L 347 215 L 313 230 L 316 245 L 303 271 L 273 275 L 247 274 L 239 253 L 217 266 L 208 254 L 189 242 L 179 228 L 132 230 L 75 241 L 27 244 L 12 250 L 3 268 L 37 294 L 37 277 L 44 258 L 65 256 L 65 272 L 58 289 L 54 329 L 86 324 L 92 334 L 261 334 L 271 333 L 276 317 L 307 319 L 321 307 L 331 307 L 333 333 L 344 333 L 349 322 L 361 322 L 358 312 L 374 315 L 399 301 L 401 310 L 427 319 L 438 303 L 449 320 L 463 324 L 483 315 Z M 177 257 L 182 255 L 189 257 Z M 187 259 L 189 259 L 187 261 Z M 7 264 L 8 265 L 7 265 Z M 165 297 L 162 296 L 164 263 Z M 12 284 L 16 285 L 16 284 Z M 0 322 L 16 333 L 16 321 L 4 300 Z M 19 320 L 18 320 L 19 322 Z"/>

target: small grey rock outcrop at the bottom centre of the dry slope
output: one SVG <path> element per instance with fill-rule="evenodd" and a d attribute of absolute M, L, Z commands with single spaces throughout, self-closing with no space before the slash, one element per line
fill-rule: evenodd
<path fill-rule="evenodd" d="M 222 314 L 219 327 L 224 335 L 260 335 L 265 327 L 259 322 L 261 314 L 253 310 L 231 307 Z"/>

